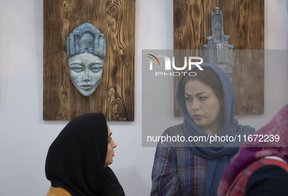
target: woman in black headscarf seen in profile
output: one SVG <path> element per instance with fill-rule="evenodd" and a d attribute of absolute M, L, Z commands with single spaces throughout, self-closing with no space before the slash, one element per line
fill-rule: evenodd
<path fill-rule="evenodd" d="M 47 196 L 124 196 L 114 172 L 116 143 L 101 113 L 77 116 L 51 144 L 45 164 Z"/>

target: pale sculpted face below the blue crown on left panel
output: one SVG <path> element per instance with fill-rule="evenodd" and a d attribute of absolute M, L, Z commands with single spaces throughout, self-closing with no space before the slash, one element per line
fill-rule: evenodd
<path fill-rule="evenodd" d="M 88 97 L 100 83 L 104 60 L 92 53 L 79 53 L 71 56 L 68 62 L 74 86 Z"/>

